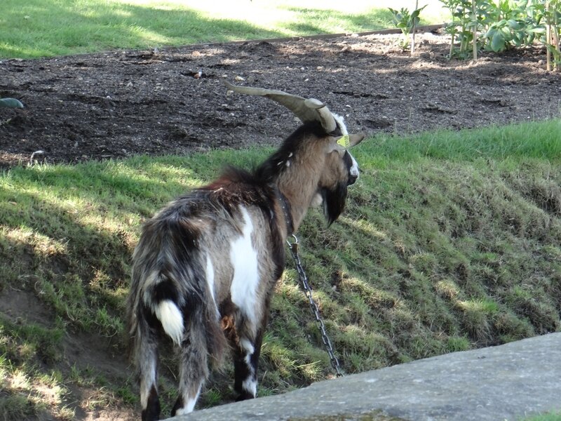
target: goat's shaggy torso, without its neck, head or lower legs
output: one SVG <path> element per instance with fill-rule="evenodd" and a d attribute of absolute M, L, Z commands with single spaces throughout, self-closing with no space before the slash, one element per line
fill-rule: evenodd
<path fill-rule="evenodd" d="M 175 320 L 169 330 L 204 325 L 207 338 L 215 338 L 208 353 L 219 359 L 222 316 L 237 312 L 254 325 L 264 319 L 285 259 L 276 200 L 273 187 L 248 173 L 237 179 L 230 174 L 181 196 L 147 221 L 133 254 L 128 307 L 133 338 L 142 336 L 141 324 L 147 323 L 180 343 L 180 335 L 168 332 L 161 320 L 179 317 L 163 314 L 161 303 L 170 302 L 184 325 Z"/>

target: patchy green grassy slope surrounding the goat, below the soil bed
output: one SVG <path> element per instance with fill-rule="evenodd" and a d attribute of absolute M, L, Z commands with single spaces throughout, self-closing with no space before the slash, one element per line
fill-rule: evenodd
<path fill-rule="evenodd" d="M 356 148 L 363 173 L 342 218 L 325 229 L 312 210 L 299 233 L 347 373 L 560 329 L 560 130 L 556 120 L 382 136 Z M 224 163 L 248 167 L 268 152 L 4 173 L 0 288 L 4 297 L 32 296 L 46 323 L 25 313 L 0 318 L 0 418 L 41 410 L 72 417 L 65 393 L 75 387 L 105 391 L 93 407 L 135 403 L 126 370 L 104 377 L 95 361 L 62 354 L 65 338 L 86 332 L 108 344 L 107 354 L 123 353 L 128 265 L 142 220 Z M 292 268 L 272 304 L 262 396 L 331 375 Z M 210 382 L 203 405 L 230 398 L 230 371 Z M 164 395 L 174 390 L 163 382 Z"/>

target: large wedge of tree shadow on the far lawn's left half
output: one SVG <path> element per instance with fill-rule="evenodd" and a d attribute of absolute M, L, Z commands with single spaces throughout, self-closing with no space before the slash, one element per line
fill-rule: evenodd
<path fill-rule="evenodd" d="M 39 21 L 46 16 L 58 27 L 54 34 Z M 283 36 L 266 27 L 241 20 L 212 18 L 189 8 L 156 8 L 133 4 L 100 4 L 97 8 L 76 6 L 74 2 L 37 2 L 25 9 L 6 8 L 6 22 L 21 22 L 19 30 L 41 33 L 27 41 L 9 31 L 2 34 L 0 57 L 34 58 L 41 55 L 92 53 L 116 48 L 151 48 L 201 42 L 222 42 L 245 38 Z M 39 28 L 39 29 L 38 29 Z"/>

